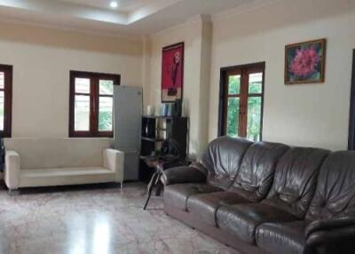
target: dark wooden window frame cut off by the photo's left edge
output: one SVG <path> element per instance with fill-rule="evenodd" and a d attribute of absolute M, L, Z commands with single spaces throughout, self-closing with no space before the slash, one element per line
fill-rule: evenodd
<path fill-rule="evenodd" d="M 12 70 L 11 65 L 0 65 L 0 72 L 4 72 L 4 131 L 0 131 L 4 138 L 12 137 Z"/>

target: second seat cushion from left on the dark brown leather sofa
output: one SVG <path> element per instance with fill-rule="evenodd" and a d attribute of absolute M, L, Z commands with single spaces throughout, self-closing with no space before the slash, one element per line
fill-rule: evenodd
<path fill-rule="evenodd" d="M 250 202 L 239 194 L 217 192 L 210 194 L 193 194 L 187 199 L 187 210 L 210 226 L 217 226 L 216 212 L 221 204 Z"/>

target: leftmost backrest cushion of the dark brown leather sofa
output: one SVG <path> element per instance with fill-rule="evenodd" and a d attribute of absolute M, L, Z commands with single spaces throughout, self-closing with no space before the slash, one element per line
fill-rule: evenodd
<path fill-rule="evenodd" d="M 201 157 L 208 171 L 207 182 L 215 187 L 231 187 L 241 166 L 241 160 L 253 143 L 247 139 L 222 137 L 209 143 Z"/>

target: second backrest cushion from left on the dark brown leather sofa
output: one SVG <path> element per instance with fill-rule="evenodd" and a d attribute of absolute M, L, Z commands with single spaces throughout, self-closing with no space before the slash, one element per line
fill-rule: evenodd
<path fill-rule="evenodd" d="M 278 143 L 253 144 L 244 155 L 237 178 L 229 190 L 255 202 L 262 200 L 272 187 L 273 175 L 280 156 L 288 149 L 288 146 Z"/>

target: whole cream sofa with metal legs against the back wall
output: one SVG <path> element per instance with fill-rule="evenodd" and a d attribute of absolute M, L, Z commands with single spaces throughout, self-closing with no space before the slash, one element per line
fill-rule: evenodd
<path fill-rule="evenodd" d="M 4 181 L 10 190 L 119 182 L 124 154 L 112 139 L 4 139 Z"/>

